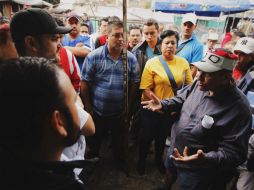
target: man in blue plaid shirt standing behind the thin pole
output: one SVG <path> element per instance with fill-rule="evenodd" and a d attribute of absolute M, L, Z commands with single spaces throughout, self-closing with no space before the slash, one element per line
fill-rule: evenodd
<path fill-rule="evenodd" d="M 81 98 L 85 109 L 93 116 L 96 133 L 87 139 L 88 158 L 99 156 L 102 138 L 111 131 L 113 156 L 121 169 L 125 165 L 127 130 L 123 123 L 124 64 L 123 23 L 108 23 L 108 42 L 85 59 L 81 76 Z M 139 67 L 135 56 L 128 52 L 129 108 L 135 100 L 139 83 Z"/>

